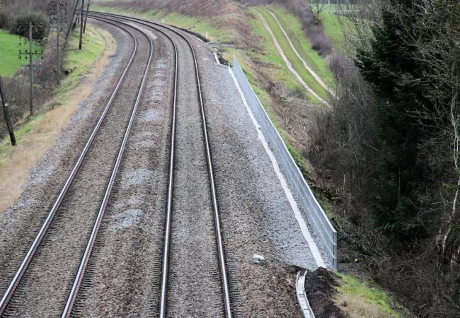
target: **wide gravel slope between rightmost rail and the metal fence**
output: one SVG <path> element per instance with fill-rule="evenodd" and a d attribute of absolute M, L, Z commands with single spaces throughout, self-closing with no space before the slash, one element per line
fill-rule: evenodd
<path fill-rule="evenodd" d="M 194 43 L 236 312 L 301 317 L 293 265 L 315 269 L 313 255 L 228 69 L 214 65 L 209 49 Z M 268 264 L 253 264 L 253 254 Z"/>

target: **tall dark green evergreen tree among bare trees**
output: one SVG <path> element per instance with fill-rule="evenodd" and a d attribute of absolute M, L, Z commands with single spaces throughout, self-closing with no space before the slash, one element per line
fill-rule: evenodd
<path fill-rule="evenodd" d="M 412 44 L 417 25 L 413 12 L 418 10 L 413 2 L 391 1 L 372 29 L 371 49 L 359 50 L 355 61 L 376 93 L 374 120 L 381 155 L 375 158 L 379 174 L 372 213 L 381 230 L 403 238 L 426 234 L 420 212 L 430 175 L 430 167 L 418 160 L 427 131 L 414 114 L 432 105 L 425 93 L 427 83 L 421 81 L 426 65 L 415 58 L 418 51 Z"/>

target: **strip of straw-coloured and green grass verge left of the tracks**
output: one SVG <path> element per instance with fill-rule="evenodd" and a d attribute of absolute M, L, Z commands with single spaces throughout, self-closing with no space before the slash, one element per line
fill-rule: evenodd
<path fill-rule="evenodd" d="M 109 33 L 91 25 L 86 25 L 81 51 L 77 32 L 71 36 L 65 58 L 65 69 L 71 73 L 62 78 L 61 86 L 45 105 L 44 109 L 49 111 L 16 127 L 18 146 L 11 147 L 8 138 L 0 142 L 0 212 L 19 198 L 30 168 L 54 145 L 57 134 L 64 129 L 80 102 L 91 93 L 96 79 L 108 64 L 108 54 L 114 49 L 114 43 Z"/>

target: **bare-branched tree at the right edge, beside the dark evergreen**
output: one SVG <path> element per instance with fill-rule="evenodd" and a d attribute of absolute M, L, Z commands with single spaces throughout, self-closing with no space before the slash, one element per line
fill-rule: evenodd
<path fill-rule="evenodd" d="M 442 212 L 436 236 L 436 247 L 443 259 L 449 261 L 452 270 L 460 263 L 460 240 L 456 229 L 460 226 L 460 19 L 456 0 L 419 0 L 417 10 L 410 18 L 418 21 L 415 28 L 405 30 L 406 41 L 416 48 L 414 58 L 426 68 L 420 83 L 427 84 L 426 95 L 434 107 L 425 107 L 413 116 L 431 138 L 422 145 L 432 152 L 437 148 L 433 163 L 442 170 L 445 165 L 450 173 L 438 175 L 443 187 L 439 189 Z M 405 25 L 407 16 L 400 16 Z M 449 154 L 450 153 L 450 154 Z"/>

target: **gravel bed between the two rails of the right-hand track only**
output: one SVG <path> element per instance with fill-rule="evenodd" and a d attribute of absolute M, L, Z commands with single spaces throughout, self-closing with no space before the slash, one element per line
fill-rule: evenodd
<path fill-rule="evenodd" d="M 168 34 L 176 41 L 179 56 L 168 317 L 223 317 L 195 65 L 187 42 Z"/>

